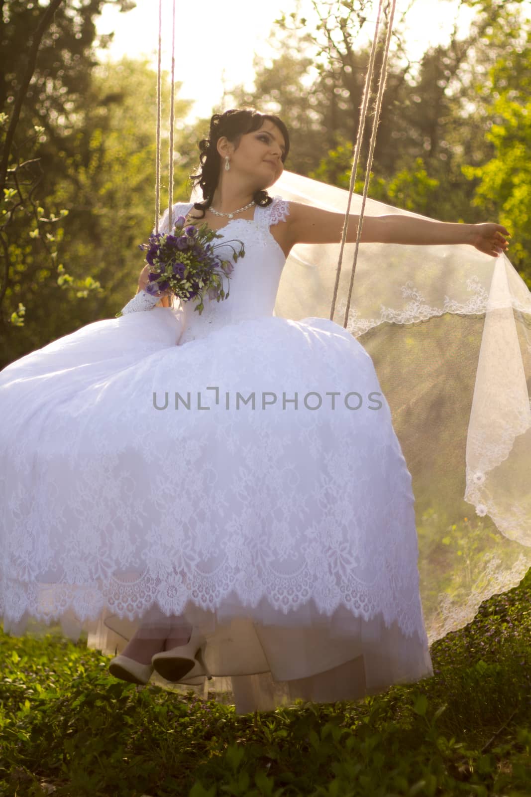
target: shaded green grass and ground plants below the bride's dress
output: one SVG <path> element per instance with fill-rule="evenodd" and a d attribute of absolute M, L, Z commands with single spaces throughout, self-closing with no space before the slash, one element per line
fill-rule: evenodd
<path fill-rule="evenodd" d="M 127 685 L 61 637 L 0 632 L 0 795 L 531 794 L 531 571 L 431 646 L 435 676 L 236 716 Z"/>

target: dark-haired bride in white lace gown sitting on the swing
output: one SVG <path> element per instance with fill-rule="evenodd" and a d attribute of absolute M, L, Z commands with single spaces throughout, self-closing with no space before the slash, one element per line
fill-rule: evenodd
<path fill-rule="evenodd" d="M 215 114 L 203 200 L 171 209 L 217 230 L 221 256 L 244 243 L 228 299 L 153 296 L 146 265 L 121 317 L 0 372 L 4 630 L 85 628 L 122 648 L 115 677 L 229 681 L 237 713 L 433 673 L 412 477 L 373 360 L 332 320 L 274 314 L 291 249 L 344 222 L 267 193 L 289 149 L 277 116 Z M 361 242 L 498 257 L 507 235 L 385 214 Z"/>

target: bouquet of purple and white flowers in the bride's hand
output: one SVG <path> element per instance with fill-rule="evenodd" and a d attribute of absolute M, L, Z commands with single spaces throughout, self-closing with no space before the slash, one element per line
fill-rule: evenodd
<path fill-rule="evenodd" d="M 243 241 L 232 239 L 222 244 L 213 244 L 221 234 L 211 230 L 205 223 L 200 226 L 185 226 L 185 217 L 179 216 L 174 223 L 173 233 L 153 233 L 149 243 L 139 244 L 139 249 L 146 251 L 146 262 L 150 265 L 148 283 L 145 292 L 149 296 L 158 296 L 159 292 L 170 289 L 182 301 L 196 300 L 194 310 L 203 312 L 203 294 L 206 291 L 209 299 L 227 299 L 229 289 L 225 293 L 223 277 L 230 280 L 234 269 L 230 260 L 218 257 L 216 249 L 229 245 L 232 249 L 232 260 L 244 257 Z M 240 249 L 232 243 L 239 243 Z M 119 317 L 122 313 L 117 313 Z"/>

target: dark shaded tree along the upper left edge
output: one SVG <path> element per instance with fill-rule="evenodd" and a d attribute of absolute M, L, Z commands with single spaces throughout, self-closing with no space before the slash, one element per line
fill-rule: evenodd
<path fill-rule="evenodd" d="M 132 7 L 130 0 L 90 0 L 81 8 L 72 0 L 51 0 L 44 10 L 37 2 L 0 2 L 0 340 L 4 349 L 13 324 L 24 324 L 21 302 L 11 313 L 5 309 L 8 292 L 13 297 L 14 274 L 28 269 L 30 279 L 38 280 L 39 257 L 44 255 L 49 266 L 57 257 L 61 227 L 55 235 L 52 229 L 65 209 L 45 214 L 41 206 L 44 172 L 38 150 L 47 134 L 61 135 L 68 103 L 73 104 L 73 96 L 76 92 L 79 96 L 86 84 L 90 48 L 96 39 L 93 17 L 103 2 L 115 2 L 121 10 Z M 105 43 L 100 37 L 100 45 Z"/>

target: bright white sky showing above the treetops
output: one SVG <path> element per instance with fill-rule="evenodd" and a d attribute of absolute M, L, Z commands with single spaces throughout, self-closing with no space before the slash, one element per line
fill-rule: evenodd
<path fill-rule="evenodd" d="M 195 103 L 189 121 L 209 116 L 214 104 L 223 95 L 223 80 L 230 88 L 244 83 L 252 86 L 252 60 L 255 53 L 267 57 L 271 49 L 267 37 L 282 11 L 295 10 L 296 0 L 201 0 L 197 14 L 193 4 L 178 2 L 176 33 L 175 77 L 182 80 L 180 95 Z M 396 15 L 408 9 L 412 0 L 397 0 Z M 430 44 L 447 41 L 458 14 L 459 0 L 416 0 L 408 12 L 410 26 L 406 38 L 408 57 L 415 61 Z M 308 16 L 310 0 L 301 0 L 301 8 Z M 376 21 L 377 3 L 372 14 Z M 474 10 L 463 6 L 459 12 L 459 31 L 466 33 Z M 172 3 L 162 4 L 162 65 L 171 68 Z M 103 6 L 96 23 L 98 33 L 115 31 L 114 41 L 107 51 L 112 59 L 128 55 L 152 57 L 157 67 L 158 2 L 136 0 L 136 8 L 119 14 L 115 6 Z M 370 28 L 370 26 L 365 26 Z M 373 29 L 373 28 L 372 28 Z M 365 30 L 365 28 L 364 28 Z M 103 51 L 104 52 L 104 51 Z M 101 53 L 102 59 L 105 56 Z"/>

